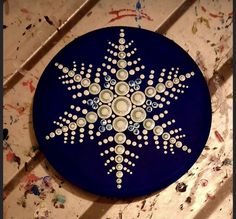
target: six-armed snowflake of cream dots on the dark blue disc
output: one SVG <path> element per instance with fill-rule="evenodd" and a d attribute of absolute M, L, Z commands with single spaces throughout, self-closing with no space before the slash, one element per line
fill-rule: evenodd
<path fill-rule="evenodd" d="M 95 136 L 102 137 L 104 132 L 111 132 L 112 135 L 98 141 L 98 145 L 112 145 L 106 147 L 100 156 L 106 159 L 107 174 L 115 172 L 118 189 L 122 187 L 124 173 L 133 174 L 131 169 L 135 166 L 135 160 L 139 159 L 132 152 L 132 147 L 148 145 L 150 136 L 156 148 L 162 149 L 164 154 L 174 154 L 175 148 L 191 153 L 191 149 L 181 141 L 186 137 L 182 129 L 173 127 L 175 119 L 166 123 L 161 120 L 168 114 L 165 106 L 185 92 L 188 85 L 184 83 L 194 76 L 194 72 L 180 74 L 179 68 L 172 67 L 169 72 L 162 69 L 157 84 L 154 84 L 155 71 L 150 70 L 147 76 L 141 58 L 130 60 L 137 53 L 137 48 L 132 48 L 133 40 L 126 43 L 124 37 L 124 29 L 120 29 L 118 44 L 108 42 L 109 56 L 104 57 L 107 64 L 104 62 L 96 69 L 93 79 L 92 64 L 86 68 L 81 63 L 78 69 L 73 61 L 73 68 L 69 69 L 55 63 L 62 71 L 59 79 L 74 93 L 72 98 L 85 99 L 82 100 L 84 107 L 71 105 L 71 112 L 64 112 L 58 121 L 54 121 L 58 127 L 46 136 L 49 140 L 63 135 L 64 143 L 70 141 L 74 144 L 75 135 L 82 143 L 85 133 L 93 140 Z M 144 92 L 142 85 L 145 86 Z M 160 112 L 157 113 L 158 110 Z M 132 139 L 128 138 L 128 132 L 132 133 Z"/>

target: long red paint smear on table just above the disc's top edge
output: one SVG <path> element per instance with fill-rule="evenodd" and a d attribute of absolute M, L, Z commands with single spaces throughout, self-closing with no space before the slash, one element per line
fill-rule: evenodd
<path fill-rule="evenodd" d="M 122 13 L 124 13 L 122 15 Z M 122 19 L 124 17 L 136 17 L 137 11 L 134 9 L 120 9 L 120 10 L 112 10 L 109 12 L 111 15 L 115 15 L 116 17 L 112 18 L 108 23 L 114 22 L 115 20 Z M 153 21 L 153 19 L 143 11 L 140 11 L 139 17 L 147 19 L 149 21 Z"/>

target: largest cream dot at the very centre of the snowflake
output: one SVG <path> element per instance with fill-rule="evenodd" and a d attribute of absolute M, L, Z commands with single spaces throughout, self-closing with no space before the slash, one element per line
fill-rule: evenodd
<path fill-rule="evenodd" d="M 118 116 L 126 116 L 132 108 L 132 104 L 127 97 L 117 97 L 113 100 L 111 108 L 113 112 Z"/>

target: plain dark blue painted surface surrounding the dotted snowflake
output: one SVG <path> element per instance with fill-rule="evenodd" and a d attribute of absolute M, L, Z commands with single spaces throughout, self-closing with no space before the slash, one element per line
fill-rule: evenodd
<path fill-rule="evenodd" d="M 114 143 L 98 146 L 97 142 L 115 132 L 106 132 L 95 140 L 90 140 L 85 134 L 84 143 L 63 143 L 63 136 L 45 140 L 45 136 L 54 131 L 57 126 L 53 124 L 64 111 L 70 111 L 71 104 L 81 106 L 81 100 L 72 99 L 72 91 L 58 79 L 62 72 L 54 66 L 55 62 L 73 68 L 73 61 L 92 64 L 93 69 L 101 67 L 103 57 L 108 56 L 106 51 L 108 41 L 117 43 L 119 30 L 125 30 L 126 41 L 134 40 L 137 55 L 146 66 L 146 75 L 154 69 L 159 74 L 162 68 L 167 71 L 171 67 L 179 67 L 181 73 L 194 71 L 195 76 L 187 79 L 184 84 L 189 88 L 184 94 L 179 95 L 177 101 L 172 101 L 165 109 L 169 111 L 161 123 L 168 119 L 175 119 L 174 128 L 182 128 L 186 138 L 182 141 L 192 152 L 186 153 L 182 149 L 175 148 L 175 154 L 165 155 L 162 150 L 157 150 L 153 138 L 149 137 L 149 145 L 142 148 L 132 147 L 131 152 L 139 155 L 132 167 L 132 175 L 124 173 L 122 189 L 116 188 L 115 172 L 107 175 L 108 168 L 104 166 L 105 159 L 100 153 Z M 95 75 L 96 71 L 91 73 Z M 131 78 L 136 78 L 132 76 Z M 147 77 L 146 77 L 147 78 Z M 158 77 L 155 77 L 158 79 Z M 145 86 L 142 84 L 144 91 Z M 89 98 L 89 96 L 88 96 Z M 155 111 L 155 112 L 158 112 Z M 154 113 L 154 112 L 153 112 Z M 153 113 L 151 115 L 153 115 Z M 150 118 L 151 116 L 149 116 Z M 97 122 L 98 123 L 98 122 Z M 95 129 L 98 125 L 95 123 Z M 163 187 L 181 177 L 197 160 L 205 146 L 211 125 L 211 105 L 209 91 L 201 71 L 191 57 L 176 43 L 168 38 L 143 29 L 130 27 L 112 27 L 99 29 L 85 34 L 63 48 L 46 67 L 41 76 L 34 97 L 33 124 L 40 149 L 45 154 L 51 165 L 66 179 L 90 192 L 113 197 L 131 197 L 148 194 Z M 171 127 L 172 128 L 172 127 Z M 86 130 L 86 128 L 85 128 Z M 86 131 L 85 131 L 86 133 Z M 132 133 L 126 132 L 129 138 Z"/>

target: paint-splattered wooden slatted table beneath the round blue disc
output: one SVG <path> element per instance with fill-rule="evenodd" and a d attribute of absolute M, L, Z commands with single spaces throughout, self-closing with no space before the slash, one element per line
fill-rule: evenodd
<path fill-rule="evenodd" d="M 4 218 L 232 218 L 232 1 L 4 1 Z M 164 34 L 197 62 L 212 98 L 202 155 L 176 183 L 130 200 L 66 182 L 38 151 L 32 98 L 52 57 L 106 26 Z M 172 209 L 170 211 L 169 209 Z"/>

